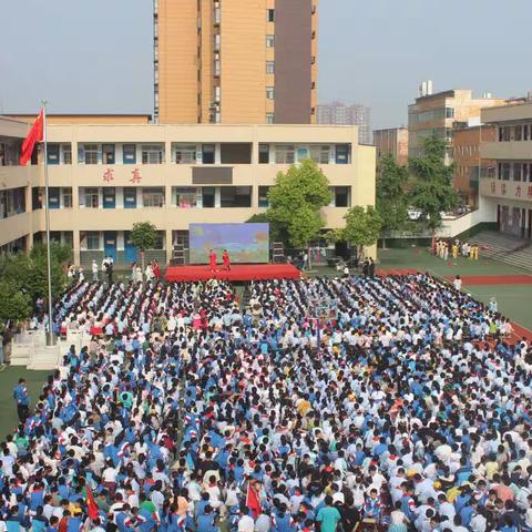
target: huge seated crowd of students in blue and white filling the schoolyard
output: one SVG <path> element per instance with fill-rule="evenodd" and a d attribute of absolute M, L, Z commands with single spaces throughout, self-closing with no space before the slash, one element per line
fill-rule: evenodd
<path fill-rule="evenodd" d="M 502 316 L 422 274 L 257 282 L 249 306 L 69 288 L 57 326 L 92 340 L 35 405 L 16 388 L 0 530 L 532 529 L 532 354 Z"/>

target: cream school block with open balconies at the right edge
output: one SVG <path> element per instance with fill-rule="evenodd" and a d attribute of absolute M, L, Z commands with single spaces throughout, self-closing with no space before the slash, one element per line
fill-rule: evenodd
<path fill-rule="evenodd" d="M 493 167 L 481 175 L 481 200 L 497 212 L 501 233 L 531 238 L 532 101 L 484 109 L 482 122 L 497 133 L 493 141 L 481 146 L 481 156 L 494 161 Z"/>

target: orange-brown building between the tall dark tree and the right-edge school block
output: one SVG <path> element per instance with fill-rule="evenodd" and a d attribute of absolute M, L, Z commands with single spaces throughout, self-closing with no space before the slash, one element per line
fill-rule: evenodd
<path fill-rule="evenodd" d="M 482 158 L 480 147 L 483 142 L 495 140 L 497 129 L 490 125 L 457 127 L 453 132 L 454 188 L 466 205 L 479 204 L 479 178 L 493 172 L 495 162 Z"/>

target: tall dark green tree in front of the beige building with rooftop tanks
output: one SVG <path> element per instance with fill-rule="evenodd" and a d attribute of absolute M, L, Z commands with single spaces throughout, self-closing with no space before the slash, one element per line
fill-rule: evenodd
<path fill-rule="evenodd" d="M 458 194 L 452 186 L 452 165 L 446 165 L 446 142 L 431 136 L 423 142 L 423 153 L 410 158 L 415 176 L 411 194 L 412 205 L 421 212 L 421 219 L 432 234 L 441 226 L 441 213 L 458 204 Z"/>

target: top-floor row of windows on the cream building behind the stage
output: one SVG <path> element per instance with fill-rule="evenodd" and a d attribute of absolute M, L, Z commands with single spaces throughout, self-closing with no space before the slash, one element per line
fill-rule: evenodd
<path fill-rule="evenodd" d="M 272 114 L 273 121 L 273 114 Z M 294 164 L 311 158 L 319 164 L 348 164 L 349 144 L 259 144 L 259 164 Z M 175 164 L 252 164 L 250 143 L 174 144 L 172 162 Z M 79 144 L 78 164 L 163 164 L 164 144 Z M 70 144 L 49 144 L 48 163 L 72 164 Z"/>

